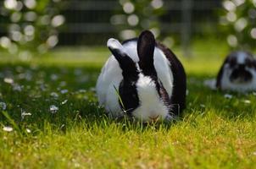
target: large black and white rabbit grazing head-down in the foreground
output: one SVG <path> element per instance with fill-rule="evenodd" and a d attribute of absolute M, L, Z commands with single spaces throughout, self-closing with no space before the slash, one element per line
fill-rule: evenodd
<path fill-rule="evenodd" d="M 185 108 L 186 74 L 167 47 L 145 30 L 135 39 L 111 38 L 112 56 L 97 79 L 97 97 L 110 117 L 171 120 Z"/>

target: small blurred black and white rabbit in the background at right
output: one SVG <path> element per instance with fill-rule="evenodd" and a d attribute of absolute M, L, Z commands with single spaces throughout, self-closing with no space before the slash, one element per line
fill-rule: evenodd
<path fill-rule="evenodd" d="M 220 68 L 216 87 L 220 90 L 256 90 L 256 62 L 249 52 L 231 52 Z"/>

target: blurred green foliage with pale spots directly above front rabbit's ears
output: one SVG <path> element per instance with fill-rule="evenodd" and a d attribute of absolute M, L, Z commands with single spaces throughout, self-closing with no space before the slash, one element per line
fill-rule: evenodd
<path fill-rule="evenodd" d="M 110 21 L 117 26 L 121 39 L 135 37 L 142 30 L 152 30 L 156 37 L 159 36 L 159 17 L 164 14 L 164 1 L 120 0 L 120 5 L 122 10 Z"/>

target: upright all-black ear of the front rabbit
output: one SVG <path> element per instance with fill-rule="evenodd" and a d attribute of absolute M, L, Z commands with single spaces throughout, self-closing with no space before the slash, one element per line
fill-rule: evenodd
<path fill-rule="evenodd" d="M 145 75 L 152 74 L 153 52 L 155 47 L 155 39 L 153 33 L 149 30 L 142 31 L 137 41 L 137 52 L 140 58 L 139 66 Z"/>

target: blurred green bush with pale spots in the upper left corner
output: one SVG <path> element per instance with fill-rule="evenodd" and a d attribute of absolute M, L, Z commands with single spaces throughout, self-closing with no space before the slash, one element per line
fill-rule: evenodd
<path fill-rule="evenodd" d="M 26 59 L 30 52 L 47 52 L 58 44 L 58 30 L 64 24 L 61 0 L 4 0 L 0 47 Z"/>

